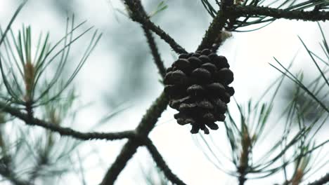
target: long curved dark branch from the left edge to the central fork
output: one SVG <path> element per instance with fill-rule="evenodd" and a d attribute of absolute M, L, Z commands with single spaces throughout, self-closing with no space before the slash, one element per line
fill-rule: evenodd
<path fill-rule="evenodd" d="M 11 114 L 16 118 L 20 118 L 20 120 L 25 121 L 27 125 L 37 125 L 42 128 L 46 128 L 53 132 L 58 132 L 58 134 L 62 136 L 74 137 L 75 139 L 81 140 L 91 140 L 91 139 L 105 139 L 105 140 L 115 140 L 115 139 L 125 139 L 125 138 L 133 138 L 133 131 L 123 131 L 123 132 L 78 132 L 71 128 L 60 127 L 59 125 L 49 123 L 47 121 L 40 120 L 38 118 L 30 118 L 29 115 L 22 113 L 20 110 L 15 109 L 3 102 L 0 102 L 1 110 Z"/>

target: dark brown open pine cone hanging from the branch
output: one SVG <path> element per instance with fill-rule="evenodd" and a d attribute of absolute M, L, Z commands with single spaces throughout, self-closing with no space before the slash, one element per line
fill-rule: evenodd
<path fill-rule="evenodd" d="M 169 106 L 179 111 L 174 115 L 177 123 L 190 123 L 193 134 L 200 129 L 205 134 L 209 134 L 208 128 L 218 129 L 214 122 L 224 121 L 226 104 L 234 94 L 228 87 L 233 81 L 229 67 L 226 57 L 209 49 L 179 55 L 164 77 Z"/>

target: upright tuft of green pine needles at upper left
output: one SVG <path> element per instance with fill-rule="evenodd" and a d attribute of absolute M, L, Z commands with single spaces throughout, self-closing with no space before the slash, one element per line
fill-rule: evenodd
<path fill-rule="evenodd" d="M 5 101 L 10 101 L 12 104 L 30 104 L 32 107 L 38 107 L 53 100 L 58 100 L 60 94 L 70 85 L 101 38 L 97 31 L 94 32 L 90 44 L 82 54 L 76 69 L 71 76 L 68 76 L 67 81 L 59 81 L 67 63 L 72 43 L 91 29 L 86 29 L 82 34 L 73 36 L 76 29 L 83 24 L 84 22 L 75 26 L 74 18 L 72 18 L 70 24 L 67 19 L 65 36 L 53 46 L 49 43 L 49 34 L 46 34 L 44 38 L 40 34 L 35 51 L 32 50 L 31 27 L 25 28 L 23 26 L 17 37 L 15 37 L 12 31 L 11 36 L 5 36 L 0 30 L 1 36 L 5 37 L 3 48 L 1 48 L 0 69 L 8 92 L 7 96 L 1 95 L 1 98 Z M 49 70 L 49 68 L 51 69 Z M 53 69 L 56 70 L 54 71 Z M 50 91 L 53 91 L 53 86 L 59 83 L 61 87 L 58 88 L 58 91 L 53 93 L 52 97 L 48 96 L 48 99 L 45 100 L 44 97 Z"/>

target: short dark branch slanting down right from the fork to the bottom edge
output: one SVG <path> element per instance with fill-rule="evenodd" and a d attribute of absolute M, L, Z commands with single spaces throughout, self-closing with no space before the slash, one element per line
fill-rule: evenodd
<path fill-rule="evenodd" d="M 148 148 L 148 151 L 150 151 L 150 154 L 152 155 L 155 163 L 157 163 L 157 167 L 162 170 L 162 172 L 167 177 L 167 179 L 169 179 L 169 181 L 172 181 L 173 184 L 185 185 L 185 183 L 181 181 L 181 179 L 179 179 L 179 177 L 177 177 L 176 174 L 172 172 L 172 170 L 170 170 L 170 168 L 162 158 L 160 152 L 157 151 L 157 148 L 150 139 L 146 139 L 145 146 Z"/>

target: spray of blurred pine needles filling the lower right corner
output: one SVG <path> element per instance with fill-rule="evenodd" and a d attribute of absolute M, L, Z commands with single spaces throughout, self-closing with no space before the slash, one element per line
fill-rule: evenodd
<path fill-rule="evenodd" d="M 320 151 L 321 146 L 327 144 L 329 140 L 318 144 L 315 136 L 323 125 L 328 123 L 329 114 L 324 109 L 318 109 L 316 115 L 310 116 L 310 112 L 314 112 L 317 104 L 310 98 L 304 98 L 306 94 L 302 88 L 297 86 L 285 107 L 279 105 L 283 110 L 282 114 L 273 115 L 272 107 L 278 105 L 275 103 L 278 99 L 276 93 L 283 90 L 281 85 L 284 77 L 285 74 L 277 81 L 277 88 L 271 90 L 274 93 L 269 103 L 262 103 L 264 102 L 262 96 L 256 102 L 248 102 L 245 107 L 237 103 L 238 115 L 228 111 L 228 121 L 225 121 L 226 138 L 231 148 L 228 154 L 223 153 L 224 151 L 217 146 L 217 142 L 222 139 L 217 135 L 211 135 L 209 138 L 200 135 L 195 138 L 205 156 L 219 170 L 238 177 L 240 183 L 244 183 L 247 179 L 259 179 L 269 177 L 276 172 L 283 172 L 285 184 L 299 184 L 307 180 L 310 174 L 328 167 L 329 158 L 320 160 L 318 156 L 326 156 Z M 323 85 L 318 83 L 312 85 L 316 92 L 323 88 Z M 270 87 L 273 86 L 271 84 Z M 270 88 L 264 95 L 269 93 L 269 90 Z M 304 100 L 304 104 L 301 105 L 300 100 Z M 278 117 L 277 121 L 276 117 Z M 273 132 L 280 137 L 275 137 Z M 264 144 L 271 147 L 264 150 L 262 149 Z M 226 163 L 231 163 L 230 167 L 223 165 Z M 295 166 L 294 172 L 288 177 L 287 168 L 292 166 Z"/>

